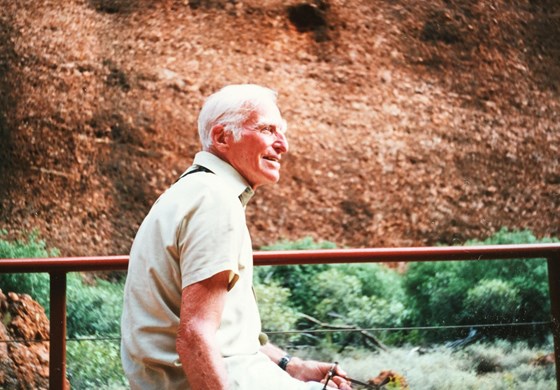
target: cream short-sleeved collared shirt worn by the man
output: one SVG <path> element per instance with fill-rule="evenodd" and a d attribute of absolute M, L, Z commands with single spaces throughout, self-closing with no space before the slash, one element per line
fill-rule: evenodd
<path fill-rule="evenodd" d="M 239 173 L 207 152 L 213 173 L 182 178 L 163 193 L 134 239 L 122 315 L 122 362 L 133 389 L 187 389 L 175 349 L 183 288 L 230 271 L 217 338 L 224 357 L 254 355 L 261 322 L 252 290 L 252 245 Z M 190 168 L 192 169 L 192 167 Z"/>

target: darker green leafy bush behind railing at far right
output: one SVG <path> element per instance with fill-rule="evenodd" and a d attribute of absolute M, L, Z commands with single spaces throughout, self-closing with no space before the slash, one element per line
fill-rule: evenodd
<path fill-rule="evenodd" d="M 537 240 L 528 231 L 502 229 L 485 241 L 466 244 L 552 241 Z M 404 276 L 404 287 L 409 320 L 416 326 L 547 321 L 550 313 L 543 259 L 412 263 Z M 502 304 L 505 307 L 499 307 Z"/>

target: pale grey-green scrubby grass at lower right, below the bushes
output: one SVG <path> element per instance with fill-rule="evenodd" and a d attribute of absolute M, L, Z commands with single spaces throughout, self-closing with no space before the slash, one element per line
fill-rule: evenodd
<path fill-rule="evenodd" d="M 410 389 L 533 389 L 556 388 L 554 365 L 535 365 L 535 359 L 552 351 L 552 345 L 529 347 L 526 343 L 477 343 L 459 351 L 445 347 L 419 354 L 413 348 L 388 352 L 346 351 L 329 357 L 338 360 L 352 377 L 367 380 L 382 370 L 402 374 Z M 300 351 L 301 352 L 301 351 Z M 325 352 L 302 352 L 325 359 Z"/>

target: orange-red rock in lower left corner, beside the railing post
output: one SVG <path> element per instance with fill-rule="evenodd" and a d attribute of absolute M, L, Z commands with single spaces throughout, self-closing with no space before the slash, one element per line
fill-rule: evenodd
<path fill-rule="evenodd" d="M 47 389 L 49 320 L 29 295 L 0 290 L 0 388 Z"/>

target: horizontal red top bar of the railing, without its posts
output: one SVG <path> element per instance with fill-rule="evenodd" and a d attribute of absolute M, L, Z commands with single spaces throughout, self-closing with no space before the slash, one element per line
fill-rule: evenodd
<path fill-rule="evenodd" d="M 457 247 L 318 249 L 256 251 L 255 265 L 382 263 L 452 260 L 550 258 L 560 255 L 560 243 Z M 0 273 L 87 272 L 126 270 L 128 256 L 0 259 Z"/>

